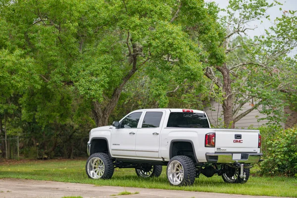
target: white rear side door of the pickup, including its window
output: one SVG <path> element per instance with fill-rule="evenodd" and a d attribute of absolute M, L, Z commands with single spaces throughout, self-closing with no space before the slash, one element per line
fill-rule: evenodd
<path fill-rule="evenodd" d="M 158 158 L 164 110 L 146 111 L 136 134 L 136 156 Z"/>

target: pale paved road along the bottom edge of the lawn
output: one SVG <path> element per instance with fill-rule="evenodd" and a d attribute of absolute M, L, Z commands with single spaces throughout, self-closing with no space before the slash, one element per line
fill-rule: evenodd
<path fill-rule="evenodd" d="M 139 194 L 110 197 L 111 195 L 117 195 L 125 190 L 131 193 L 139 192 Z M 83 198 L 276 198 L 220 193 L 94 186 L 90 184 L 51 181 L 0 179 L 0 198 L 62 198 L 64 196 L 81 196 Z"/>

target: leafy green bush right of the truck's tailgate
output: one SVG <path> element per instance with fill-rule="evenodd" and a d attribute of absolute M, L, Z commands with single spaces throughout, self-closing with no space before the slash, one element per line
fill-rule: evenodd
<path fill-rule="evenodd" d="M 281 130 L 260 129 L 263 137 L 261 173 L 265 175 L 297 175 L 297 126 Z"/>

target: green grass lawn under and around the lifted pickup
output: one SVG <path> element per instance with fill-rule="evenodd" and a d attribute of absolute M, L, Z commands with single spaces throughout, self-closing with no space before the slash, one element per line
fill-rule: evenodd
<path fill-rule="evenodd" d="M 86 160 L 65 159 L 0 163 L 0 178 L 297 198 L 296 178 L 255 177 L 256 168 L 251 169 L 251 176 L 246 184 L 226 184 L 220 176 L 215 175 L 207 178 L 200 175 L 199 178 L 196 178 L 193 186 L 175 187 L 167 181 L 165 166 L 163 166 L 163 172 L 158 178 L 139 178 L 134 169 L 116 168 L 110 180 L 93 180 L 86 175 L 85 163 Z"/>

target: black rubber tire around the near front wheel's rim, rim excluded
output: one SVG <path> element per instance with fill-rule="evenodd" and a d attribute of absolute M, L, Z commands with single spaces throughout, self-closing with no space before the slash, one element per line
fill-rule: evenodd
<path fill-rule="evenodd" d="M 113 167 L 113 161 L 110 157 L 110 155 L 108 153 L 103 153 L 103 152 L 97 152 L 97 153 L 93 153 L 87 160 L 86 163 L 86 173 L 88 175 L 89 178 L 90 175 L 88 173 L 88 162 L 93 158 L 93 157 L 99 157 L 100 159 L 102 159 L 103 163 L 104 163 L 104 173 L 102 175 L 102 177 L 100 179 L 110 179 L 113 175 L 114 172 L 114 167 Z"/>

